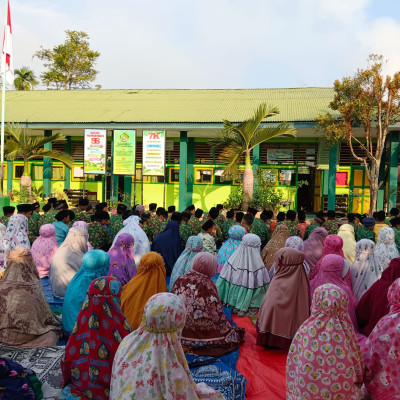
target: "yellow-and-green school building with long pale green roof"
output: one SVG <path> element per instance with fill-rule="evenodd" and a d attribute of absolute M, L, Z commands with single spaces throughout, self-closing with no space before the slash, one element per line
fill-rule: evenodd
<path fill-rule="evenodd" d="M 213 157 L 209 138 L 223 127 L 224 119 L 243 121 L 265 102 L 280 110 L 266 125 L 288 121 L 297 129 L 296 139 L 282 137 L 253 151 L 254 169 L 260 168 L 283 190 L 287 205 L 282 210 L 367 212 L 369 182 L 364 167 L 346 143 L 329 147 L 315 130 L 315 117 L 329 111 L 332 99 L 332 88 L 10 91 L 6 122 L 19 123 L 33 135 L 62 132 L 67 137 L 65 144 L 53 144 L 53 149 L 73 156 L 72 169 L 49 159 L 30 162 L 33 186 L 44 185 L 46 196 L 85 189 L 97 200 L 175 204 L 180 210 L 195 204 L 208 210 L 241 184 L 240 175 L 236 180 L 224 179 L 224 165 L 218 154 Z M 83 174 L 85 129 L 107 130 L 107 177 Z M 112 173 L 113 130 L 117 129 L 136 130 L 136 177 L 134 171 L 130 176 Z M 165 176 L 142 176 L 141 134 L 147 129 L 167 132 Z M 399 133 L 400 126 L 394 126 L 386 143 L 378 209 L 399 202 Z M 361 129 L 356 129 L 356 135 L 363 137 Z M 8 193 L 18 190 L 22 171 L 22 160 L 7 161 Z"/>

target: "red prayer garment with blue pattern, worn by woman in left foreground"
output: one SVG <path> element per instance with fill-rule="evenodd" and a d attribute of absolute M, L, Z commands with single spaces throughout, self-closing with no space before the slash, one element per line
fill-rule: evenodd
<path fill-rule="evenodd" d="M 131 332 L 119 308 L 120 296 L 121 284 L 111 276 L 90 284 L 61 361 L 63 399 L 109 398 L 114 356 Z"/>

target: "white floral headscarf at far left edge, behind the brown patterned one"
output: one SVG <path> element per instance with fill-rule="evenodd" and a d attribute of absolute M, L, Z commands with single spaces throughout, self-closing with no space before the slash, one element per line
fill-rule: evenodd
<path fill-rule="evenodd" d="M 7 254 L 17 246 L 31 248 L 28 218 L 22 214 L 14 214 L 8 220 L 6 233 L 0 243 L 0 264 L 6 264 Z"/>

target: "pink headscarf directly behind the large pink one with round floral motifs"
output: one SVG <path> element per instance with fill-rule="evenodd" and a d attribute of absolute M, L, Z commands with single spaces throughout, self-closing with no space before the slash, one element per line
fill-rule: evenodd
<path fill-rule="evenodd" d="M 331 235 L 329 235 L 331 236 Z M 328 236 L 328 237 L 329 237 Z M 349 315 L 353 322 L 354 329 L 358 331 L 357 317 L 355 307 L 357 300 L 347 283 L 343 278 L 343 270 L 345 267 L 345 260 L 343 257 L 336 254 L 328 254 L 322 259 L 321 268 L 318 274 L 310 282 L 310 298 L 314 296 L 314 292 L 318 286 L 325 283 L 331 283 L 343 289 L 349 298 Z"/>

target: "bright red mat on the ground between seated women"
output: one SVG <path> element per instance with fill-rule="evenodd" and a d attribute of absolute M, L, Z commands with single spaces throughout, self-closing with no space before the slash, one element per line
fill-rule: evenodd
<path fill-rule="evenodd" d="M 257 346 L 257 331 L 251 319 L 234 315 L 233 320 L 246 329 L 237 363 L 239 373 L 247 380 L 246 399 L 285 400 L 287 351 Z"/>

